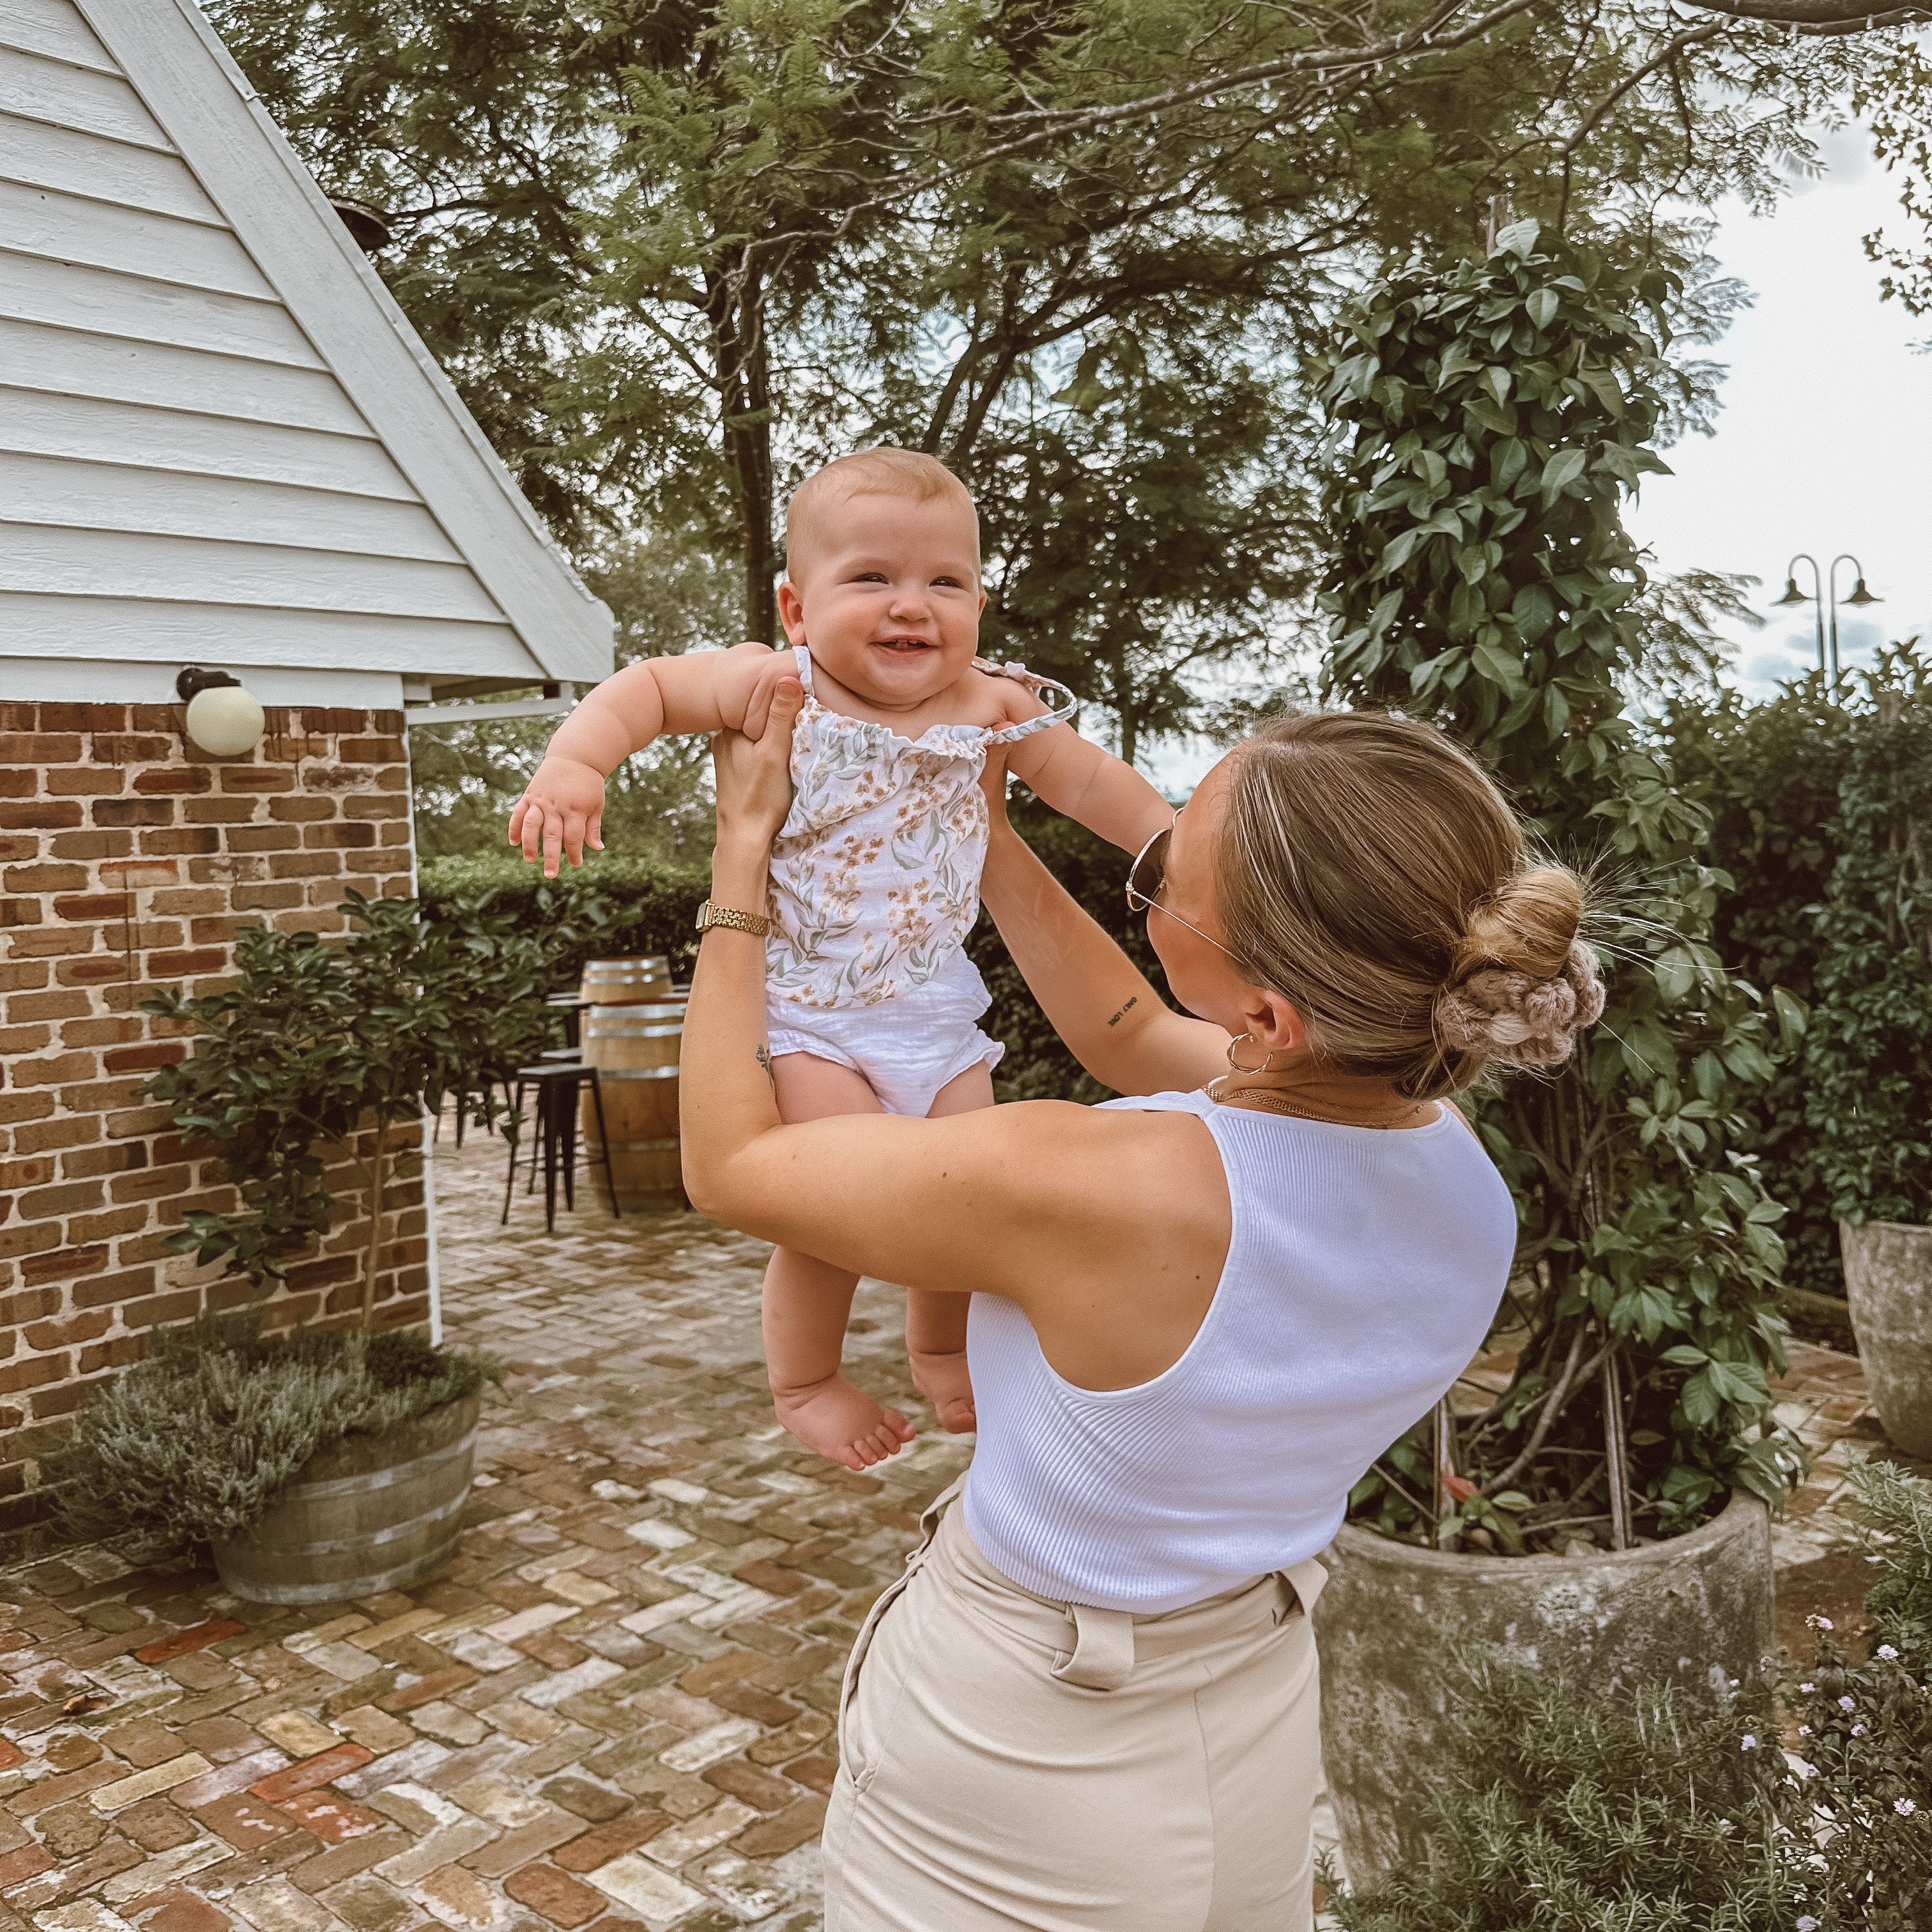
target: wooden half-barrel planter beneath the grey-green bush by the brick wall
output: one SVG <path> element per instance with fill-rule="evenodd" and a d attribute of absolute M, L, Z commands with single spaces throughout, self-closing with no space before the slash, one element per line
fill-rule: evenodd
<path fill-rule="evenodd" d="M 466 1395 L 319 1449 L 261 1522 L 214 1546 L 222 1582 L 251 1604 L 340 1604 L 440 1569 L 462 1532 L 481 1410 Z"/>

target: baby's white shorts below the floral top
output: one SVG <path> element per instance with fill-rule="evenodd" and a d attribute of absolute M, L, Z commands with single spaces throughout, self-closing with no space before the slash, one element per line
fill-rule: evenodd
<path fill-rule="evenodd" d="M 980 1032 L 993 995 L 964 952 L 896 999 L 877 1007 L 800 1007 L 775 999 L 765 1014 L 771 1057 L 815 1053 L 866 1076 L 887 1113 L 923 1119 L 939 1090 L 985 1061 L 1001 1063 L 1005 1045 Z"/>

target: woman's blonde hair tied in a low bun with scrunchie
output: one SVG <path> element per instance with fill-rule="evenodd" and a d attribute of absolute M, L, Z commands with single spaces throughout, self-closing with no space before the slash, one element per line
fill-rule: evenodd
<path fill-rule="evenodd" d="M 1331 1065 L 1412 1099 L 1561 1065 L 1604 1010 L 1584 881 L 1532 866 L 1495 781 L 1410 719 L 1264 724 L 1235 765 L 1219 910 Z"/>

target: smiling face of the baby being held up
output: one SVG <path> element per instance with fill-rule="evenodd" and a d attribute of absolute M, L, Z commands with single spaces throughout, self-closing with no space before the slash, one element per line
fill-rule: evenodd
<path fill-rule="evenodd" d="M 848 497 L 792 572 L 786 638 L 866 703 L 912 711 L 972 668 L 985 591 L 964 504 Z"/>

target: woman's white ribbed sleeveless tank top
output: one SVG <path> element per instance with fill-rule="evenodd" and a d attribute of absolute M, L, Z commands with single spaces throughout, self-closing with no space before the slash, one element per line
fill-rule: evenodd
<path fill-rule="evenodd" d="M 1014 1302 L 976 1294 L 966 1526 L 1037 1596 L 1155 1613 L 1329 1544 L 1349 1490 L 1482 1347 L 1517 1213 L 1447 1109 L 1366 1128 L 1206 1094 L 1105 1105 L 1213 1134 L 1233 1204 L 1221 1281 L 1180 1360 L 1132 1389 L 1065 1381 Z"/>

